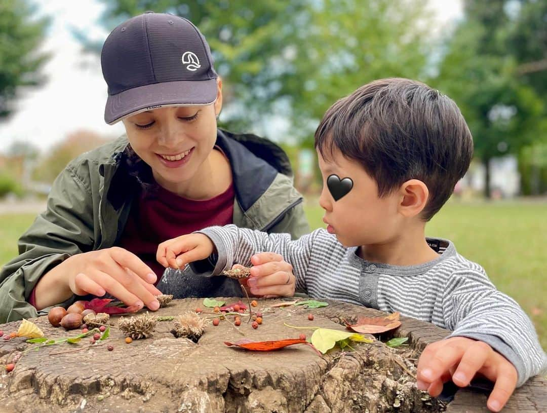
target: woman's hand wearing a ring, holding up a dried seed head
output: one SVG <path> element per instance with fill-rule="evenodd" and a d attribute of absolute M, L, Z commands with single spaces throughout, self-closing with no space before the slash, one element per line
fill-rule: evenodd
<path fill-rule="evenodd" d="M 283 260 L 280 254 L 261 252 L 251 257 L 251 276 L 242 280 L 243 286 L 252 295 L 278 297 L 293 296 L 296 277 L 293 266 Z M 239 264 L 235 267 L 241 267 Z"/>

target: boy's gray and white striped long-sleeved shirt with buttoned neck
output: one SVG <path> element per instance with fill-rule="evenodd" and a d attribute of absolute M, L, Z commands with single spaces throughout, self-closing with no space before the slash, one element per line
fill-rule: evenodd
<path fill-rule="evenodd" d="M 289 234 L 267 234 L 235 225 L 199 232 L 214 242 L 213 275 L 232 264 L 251 265 L 251 256 L 275 252 L 293 265 L 296 290 L 311 298 L 363 305 L 427 321 L 453 330 L 450 336 L 481 340 L 514 364 L 518 386 L 547 368 L 547 357 L 532 322 L 509 296 L 499 292 L 485 270 L 456 252 L 453 243 L 428 239 L 439 257 L 425 264 L 371 263 L 318 229 L 292 241 Z"/>

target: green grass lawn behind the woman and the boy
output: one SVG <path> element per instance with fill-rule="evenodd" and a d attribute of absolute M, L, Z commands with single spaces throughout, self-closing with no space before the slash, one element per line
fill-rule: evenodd
<path fill-rule="evenodd" d="M 315 200 L 305 209 L 313 229 L 324 226 Z M 0 265 L 15 257 L 17 239 L 34 217 L 0 215 Z M 427 224 L 426 233 L 452 240 L 459 253 L 481 264 L 497 288 L 532 318 L 547 348 L 547 203 L 452 201 Z"/>

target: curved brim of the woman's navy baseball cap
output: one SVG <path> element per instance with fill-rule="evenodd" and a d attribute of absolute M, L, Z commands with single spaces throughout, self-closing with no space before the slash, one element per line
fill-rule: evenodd
<path fill-rule="evenodd" d="M 104 121 L 112 125 L 130 115 L 165 106 L 200 106 L 217 99 L 217 79 L 154 83 L 108 95 Z"/>

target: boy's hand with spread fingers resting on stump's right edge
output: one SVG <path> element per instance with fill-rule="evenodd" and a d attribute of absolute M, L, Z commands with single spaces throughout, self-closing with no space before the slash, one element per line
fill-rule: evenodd
<path fill-rule="evenodd" d="M 517 382 L 517 372 L 501 354 L 483 341 L 452 337 L 429 344 L 418 361 L 417 387 L 437 397 L 443 383 L 452 379 L 459 387 L 469 385 L 475 374 L 494 382 L 487 407 L 500 411 Z"/>

